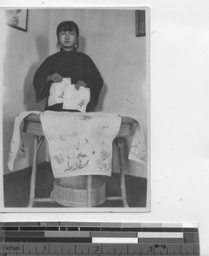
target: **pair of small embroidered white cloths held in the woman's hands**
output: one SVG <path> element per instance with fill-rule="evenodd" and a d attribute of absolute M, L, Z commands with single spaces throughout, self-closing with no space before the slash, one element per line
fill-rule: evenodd
<path fill-rule="evenodd" d="M 87 104 L 90 102 L 90 88 L 80 87 L 75 90 L 75 85 L 71 84 L 71 79 L 63 79 L 61 83 L 52 83 L 49 90 L 48 106 L 63 103 L 63 109 L 77 109 L 85 112 Z"/>

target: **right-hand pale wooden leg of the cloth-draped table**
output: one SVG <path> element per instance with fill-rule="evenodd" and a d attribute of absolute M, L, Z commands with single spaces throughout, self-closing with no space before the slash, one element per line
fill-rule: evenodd
<path fill-rule="evenodd" d="M 116 138 L 116 143 L 119 147 L 119 168 L 120 168 L 120 189 L 122 195 L 122 201 L 124 207 L 129 207 L 127 199 L 126 199 L 126 188 L 125 188 L 125 153 L 124 153 L 124 145 L 125 145 L 125 138 L 118 137 Z"/>

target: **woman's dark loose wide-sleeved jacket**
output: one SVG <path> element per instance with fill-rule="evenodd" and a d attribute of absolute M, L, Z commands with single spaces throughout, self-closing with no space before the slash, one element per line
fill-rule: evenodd
<path fill-rule="evenodd" d="M 71 78 L 71 83 L 76 84 L 78 80 L 83 80 L 90 88 L 90 102 L 86 111 L 94 111 L 98 104 L 98 98 L 102 89 L 103 80 L 94 62 L 88 55 L 61 49 L 60 52 L 50 55 L 40 67 L 38 67 L 33 79 L 36 90 L 37 102 L 49 97 L 51 83 L 47 82 L 49 75 L 58 73 L 62 78 Z M 48 107 L 46 102 L 45 110 L 62 110 L 62 103 Z"/>

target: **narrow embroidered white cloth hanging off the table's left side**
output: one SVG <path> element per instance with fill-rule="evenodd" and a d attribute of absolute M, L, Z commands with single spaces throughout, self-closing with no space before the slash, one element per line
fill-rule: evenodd
<path fill-rule="evenodd" d="M 10 171 L 13 171 L 15 159 L 26 157 L 25 147 L 22 142 L 20 124 L 23 119 L 31 113 L 40 113 L 39 111 L 24 111 L 18 113 L 15 117 L 15 125 L 13 131 L 13 137 L 10 144 L 8 167 Z"/>

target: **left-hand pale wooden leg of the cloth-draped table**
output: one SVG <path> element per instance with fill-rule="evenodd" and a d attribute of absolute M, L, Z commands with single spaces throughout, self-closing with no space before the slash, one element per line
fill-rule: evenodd
<path fill-rule="evenodd" d="M 34 137 L 34 151 L 33 151 L 33 161 L 32 161 L 32 177 L 31 177 L 31 186 L 30 186 L 30 199 L 28 207 L 33 207 L 34 198 L 35 198 L 35 189 L 36 189 L 36 176 L 37 176 L 37 156 L 38 149 L 44 141 L 44 137 L 41 137 L 38 141 L 38 135 Z"/>

